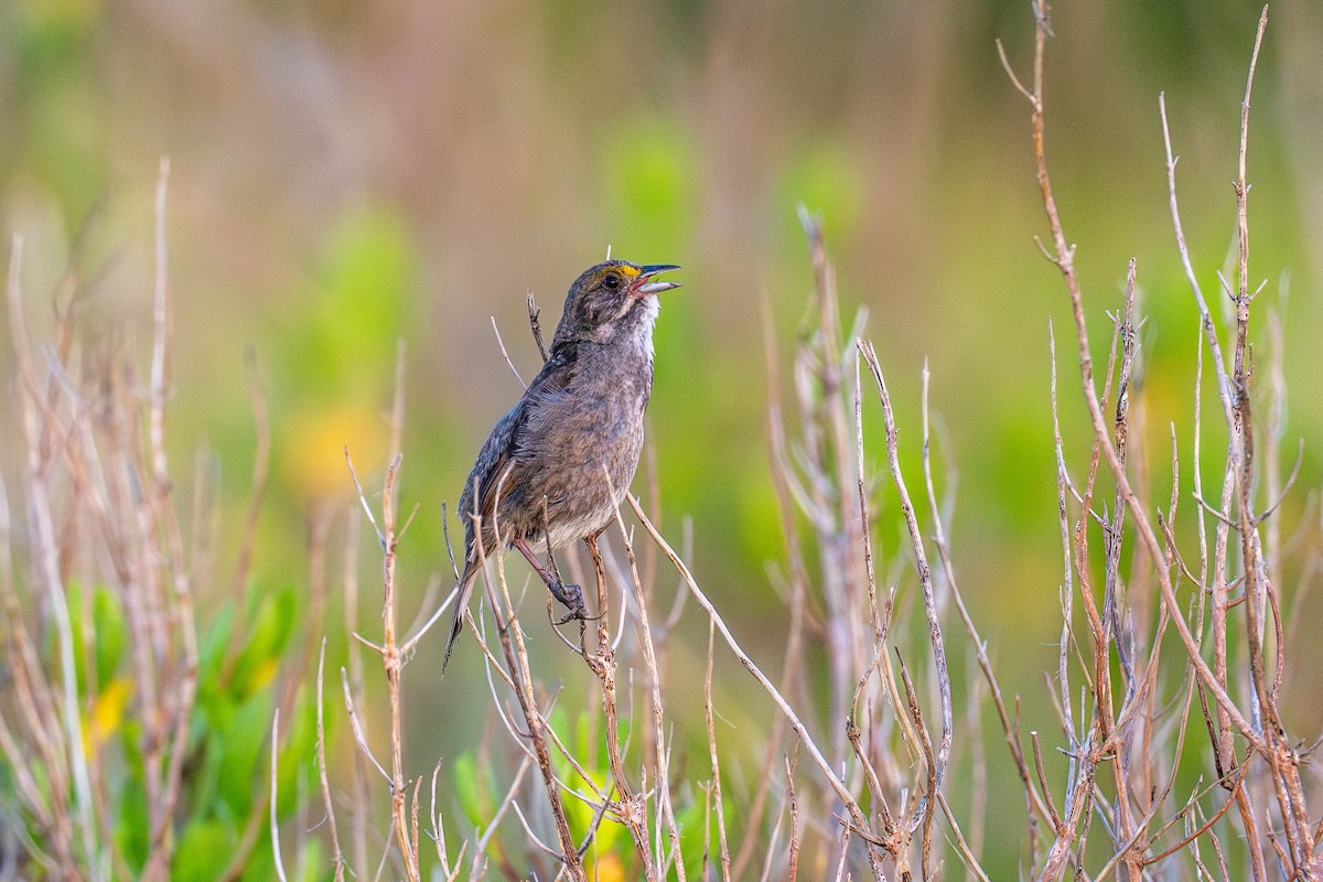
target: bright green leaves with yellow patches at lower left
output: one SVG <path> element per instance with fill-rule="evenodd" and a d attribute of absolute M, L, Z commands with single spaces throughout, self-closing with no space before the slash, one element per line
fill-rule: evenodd
<path fill-rule="evenodd" d="M 131 636 L 122 599 L 106 586 L 87 590 L 73 583 L 67 604 L 74 639 L 87 659 L 86 665 L 79 665 L 77 694 L 78 705 L 86 709 L 82 750 L 102 770 L 107 795 L 106 826 L 112 836 L 105 846 L 114 850 L 123 866 L 142 873 L 153 848 L 152 817 L 157 813 L 148 780 L 160 772 L 147 764 L 144 709 L 139 705 L 134 666 L 126 657 L 128 641 L 142 635 Z M 300 618 L 299 595 L 292 587 L 251 588 L 245 596 L 242 618 L 247 624 L 238 633 L 232 631 L 233 612 L 232 604 L 224 604 L 200 639 L 197 703 L 188 719 L 173 833 L 167 834 L 173 841 L 172 879 L 214 879 L 239 854 L 245 829 L 253 824 L 259 824 L 255 828 L 259 836 L 249 846 L 269 849 L 265 819 L 271 721 L 283 692 L 278 674 L 302 652 L 302 645 L 291 640 Z M 48 637 L 44 664 L 52 669 L 58 668 L 56 651 L 57 643 Z M 292 713 L 280 721 L 282 751 L 275 774 L 279 817 L 290 817 L 302 808 L 314 780 L 315 698 L 312 690 L 300 685 L 294 693 Z M 29 771 L 49 793 L 41 754 L 34 751 L 32 756 Z M 157 766 L 171 762 L 168 750 L 157 751 L 156 756 Z M 0 793 L 12 791 L 12 778 L 0 772 Z M 245 878 L 253 879 L 270 878 L 270 870 L 265 857 L 243 867 Z"/>

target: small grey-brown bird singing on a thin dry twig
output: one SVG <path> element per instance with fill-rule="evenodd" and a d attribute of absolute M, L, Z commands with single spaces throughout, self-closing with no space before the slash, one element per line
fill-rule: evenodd
<path fill-rule="evenodd" d="M 582 591 L 561 582 L 552 550 L 601 534 L 628 492 L 652 394 L 656 295 L 680 287 L 656 276 L 679 268 L 606 261 L 570 286 L 546 362 L 492 427 L 459 496 L 464 569 L 443 674 L 486 554 L 519 549 L 569 610 L 562 621 L 586 618 Z"/>

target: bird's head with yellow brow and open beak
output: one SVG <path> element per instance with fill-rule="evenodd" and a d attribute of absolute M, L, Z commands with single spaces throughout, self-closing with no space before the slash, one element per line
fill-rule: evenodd
<path fill-rule="evenodd" d="M 639 266 L 607 261 L 585 270 L 565 298 L 565 312 L 552 345 L 572 340 L 650 344 L 658 315 L 656 295 L 680 287 L 679 282 L 654 282 L 654 278 L 679 268 L 671 263 Z"/>

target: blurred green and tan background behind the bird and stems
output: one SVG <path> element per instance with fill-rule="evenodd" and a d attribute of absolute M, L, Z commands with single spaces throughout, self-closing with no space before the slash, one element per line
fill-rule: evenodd
<path fill-rule="evenodd" d="M 1053 9 L 1057 197 L 1098 335 L 1138 259 L 1151 316 L 1142 389 L 1159 438 L 1175 421 L 1188 439 L 1197 327 L 1171 235 L 1158 94 L 1212 292 L 1234 229 L 1229 181 L 1258 12 L 1228 0 Z M 1007 682 L 1041 698 L 1061 581 L 1048 324 L 1069 321 L 1032 242 L 1044 223 L 1028 106 L 995 46 L 1028 70 L 1028 3 L 11 0 L 0 30 L 0 213 L 25 239 L 34 335 L 50 327 L 82 230 L 78 259 L 94 279 L 83 332 L 130 327 L 147 340 L 153 188 L 160 157 L 171 160 L 171 444 L 183 461 L 216 451 L 224 559 L 250 492 L 251 348 L 273 434 L 258 584 L 306 582 L 308 513 L 351 491 L 345 444 L 380 481 L 404 340 L 402 501 L 419 506 L 402 550 L 407 619 L 445 569 L 441 504 L 520 393 L 492 320 L 531 376 L 525 292 L 549 333 L 568 283 L 610 247 L 684 266 L 658 324 L 650 410 L 663 528 L 679 536 L 692 518 L 697 577 L 738 608 L 755 655 L 775 660 L 783 612 L 766 566 L 783 538 L 765 340 L 785 373 L 811 291 L 803 204 L 826 220 L 847 311 L 868 311 L 912 447 L 929 360 L 942 458 L 959 475 L 963 588 Z M 1289 524 L 1323 472 L 1320 143 L 1323 7 L 1285 0 L 1256 83 L 1249 179 L 1252 274 L 1285 315 L 1285 443 L 1306 439 Z M 0 353 L 12 357 L 7 339 Z M 1073 362 L 1061 374 L 1073 391 Z M 1077 395 L 1062 395 L 1062 411 L 1082 467 Z M 12 430 L 4 438 L 9 468 L 19 448 Z M 1166 450 L 1150 455 L 1162 468 Z M 890 554 L 898 536 L 886 529 Z M 425 647 L 409 669 L 415 771 L 471 734 L 434 721 L 452 719 L 454 681 L 476 676 L 476 653 L 445 685 L 415 673 L 437 655 Z M 1323 662 L 1308 651 L 1297 661 L 1294 686 L 1316 686 Z M 1027 729 L 1050 727 L 1039 705 Z M 1323 710 L 1295 709 L 1293 725 L 1312 738 Z M 1012 844 L 1005 866 L 1015 854 Z"/>

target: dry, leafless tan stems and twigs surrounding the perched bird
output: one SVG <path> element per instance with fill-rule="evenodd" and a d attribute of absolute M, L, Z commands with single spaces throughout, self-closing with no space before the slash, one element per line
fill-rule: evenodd
<path fill-rule="evenodd" d="M 320 628 L 325 598 L 343 592 L 348 635 L 329 640 L 345 643 L 347 661 L 340 689 L 327 686 L 323 639 L 310 696 L 299 686 L 314 681 L 311 641 L 280 643 L 263 655 L 241 629 L 224 629 L 218 643 L 198 639 L 194 591 L 217 582 L 204 566 L 201 541 L 212 514 L 200 508 L 188 532 L 164 455 L 164 234 L 146 383 L 123 353 L 75 345 L 67 323 L 44 360 L 34 356 L 22 324 L 16 245 L 9 324 L 26 467 L 21 487 L 8 488 L 0 506 L 8 670 L 0 747 L 9 768 L 0 779 L 7 799 L 0 822 L 8 830 L 0 878 L 177 874 L 191 825 L 216 811 L 198 788 L 212 743 L 206 727 L 218 725 L 208 710 L 217 701 L 204 680 L 209 674 L 226 684 L 234 707 L 270 711 L 263 725 L 271 721 L 270 743 L 279 747 L 242 803 L 243 834 L 214 867 L 222 878 L 262 873 L 269 860 L 282 879 L 988 879 L 988 816 L 1012 809 L 1023 813 L 1020 875 L 1323 877 L 1318 774 L 1302 734 L 1282 722 L 1285 635 L 1307 587 L 1289 581 L 1298 570 L 1283 562 L 1316 549 L 1286 547 L 1294 525 L 1278 522 L 1295 479 L 1294 471 L 1282 475 L 1277 451 L 1285 418 L 1279 335 L 1257 357 L 1252 346 L 1253 324 L 1278 321 L 1256 301 L 1262 286 L 1250 275 L 1246 209 L 1250 95 L 1266 21 L 1265 9 L 1241 107 L 1236 270 L 1230 279 L 1218 276 L 1220 296 L 1233 304 L 1229 327 L 1209 309 L 1184 239 L 1162 104 L 1175 247 L 1203 341 L 1197 362 L 1187 366 L 1193 424 L 1170 431 L 1155 428 L 1164 417 L 1143 402 L 1144 317 L 1134 262 L 1122 301 L 1111 304 L 1111 340 L 1095 369 L 1102 349 L 1090 340 L 1088 317 L 1109 307 L 1084 296 L 1048 175 L 1043 60 L 1050 30 L 1043 8 L 1036 7 L 1028 81 L 1007 63 L 1031 108 L 1049 230 L 1040 247 L 1061 271 L 1069 299 L 1074 346 L 1062 358 L 1078 365 L 1091 430 L 1088 450 L 1068 448 L 1057 401 L 1076 393 L 1058 389 L 1053 340 L 1043 394 L 1054 415 L 1044 431 L 1056 439 L 1061 578 L 1025 590 L 1060 604 L 1060 655 L 1044 694 L 1025 700 L 1052 702 L 1056 733 L 1021 730 L 1021 698 L 1003 690 L 987 637 L 964 603 L 959 549 L 949 542 L 954 501 L 938 493 L 939 485 L 954 487 L 954 468 L 934 464 L 927 369 L 919 424 L 898 424 L 884 358 L 863 336 L 863 313 L 848 331 L 841 325 L 822 226 L 807 213 L 812 307 L 792 352 L 792 386 L 774 390 L 767 414 L 770 480 L 786 538 L 775 574 L 785 607 L 778 669 L 765 670 L 741 647 L 732 611 L 709 598 L 689 555 L 655 526 L 659 513 L 630 496 L 609 540 L 587 545 L 594 619 L 562 632 L 557 645 L 582 657 L 587 685 L 562 686 L 540 673 L 521 623 L 531 620 L 537 592 L 525 596 L 507 578 L 504 559 L 487 558 L 484 603 L 471 620 L 486 684 L 471 684 L 468 706 L 454 713 L 482 714 L 491 725 L 474 746 L 468 772 L 438 763 L 414 778 L 404 758 L 409 707 L 401 684 L 406 672 L 414 674 L 409 661 L 441 614 L 435 607 L 445 610 L 452 595 L 438 604 L 431 592 L 423 610 L 431 618 L 400 628 L 396 562 L 407 550 L 402 540 L 411 520 L 398 516 L 397 499 L 402 349 L 380 493 L 365 492 L 353 473 L 361 521 L 381 550 L 380 633 L 376 621 L 360 623 L 355 614 L 361 521 L 357 513 L 347 518 L 343 557 L 332 561 L 327 536 L 336 516 L 323 513 L 310 542 L 318 599 L 311 625 Z M 164 220 L 163 173 L 161 229 Z M 529 319 L 545 357 L 532 300 Z M 775 382 L 774 342 L 769 362 Z M 1205 370 L 1217 390 L 1207 426 Z M 261 424 L 258 394 L 254 402 Z M 1266 415 L 1256 417 L 1263 402 Z M 880 409 L 881 438 L 865 432 L 876 424 L 865 418 L 871 409 Z M 1177 455 L 1181 435 L 1192 438 L 1188 463 Z M 1200 459 L 1209 436 L 1224 446 L 1209 467 L 1217 487 L 1205 493 Z M 1160 481 L 1144 471 L 1144 451 L 1167 446 L 1171 492 L 1156 499 Z M 916 461 L 916 450 L 918 472 L 902 467 Z M 875 458 L 885 459 L 885 469 L 871 468 Z M 662 479 L 654 471 L 650 480 L 644 499 L 655 501 Z M 898 512 L 905 537 L 885 555 L 875 546 L 881 510 Z M 9 520 L 17 512 L 21 530 Z M 251 536 L 255 516 L 247 524 Z M 239 586 L 249 549 L 246 542 Z M 332 586 L 336 565 L 341 575 Z M 242 591 L 238 602 L 251 606 Z M 546 614 L 553 618 L 550 602 Z M 673 636 L 685 616 L 706 620 L 701 685 L 668 678 L 679 668 Z M 106 660 L 108 621 L 120 623 L 123 664 L 118 656 Z M 296 648 L 282 656 L 284 645 Z M 963 678 L 953 677 L 949 664 L 957 652 L 968 661 L 959 665 L 967 669 Z M 384 693 L 368 688 L 378 670 L 373 657 Z M 253 672 L 273 659 L 283 677 L 261 681 Z M 733 662 L 747 672 L 742 701 L 773 721 L 763 730 L 721 725 L 714 670 Z M 106 702 L 115 696 L 119 714 L 134 725 L 116 719 L 103 731 Z M 262 696 L 265 703 L 251 703 Z M 699 705 L 701 713 L 677 710 Z M 376 713 L 385 725 L 364 725 Z M 328 733 L 345 726 L 352 738 L 341 739 L 336 762 Z M 213 748 L 224 754 L 224 747 Z M 1052 774 L 1058 767 L 1045 759 L 1052 752 L 1065 758 L 1064 776 Z M 753 767 L 749 756 L 758 758 Z M 282 792 L 303 780 L 294 768 L 314 764 L 315 792 Z M 992 766 L 1011 767 L 1019 789 L 990 792 Z M 135 785 L 146 833 L 126 840 L 118 833 L 123 795 Z M 296 807 L 282 809 L 286 800 Z M 269 857 L 255 848 L 263 840 Z"/>

